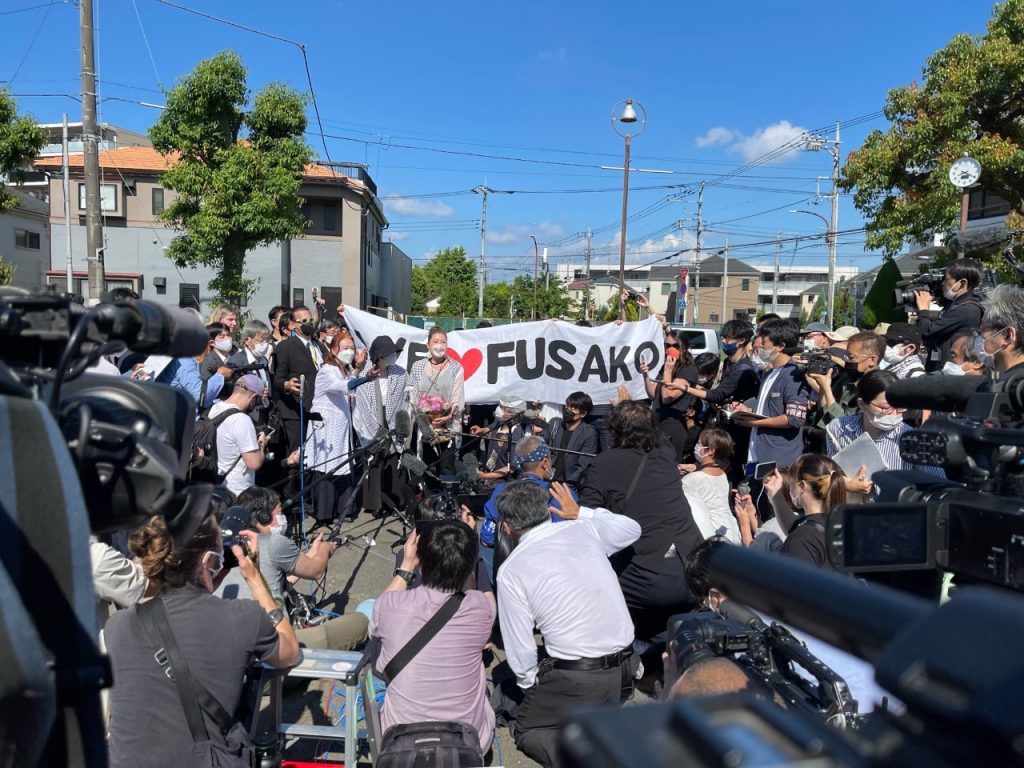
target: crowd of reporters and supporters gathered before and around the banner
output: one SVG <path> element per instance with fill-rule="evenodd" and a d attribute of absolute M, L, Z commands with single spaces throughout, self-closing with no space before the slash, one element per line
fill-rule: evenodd
<path fill-rule="evenodd" d="M 191 677 L 227 712 L 250 658 L 288 667 L 300 645 L 369 641 L 388 677 L 382 720 L 392 733 L 453 721 L 482 757 L 496 723 L 508 724 L 524 754 L 559 765 L 566 713 L 630 698 L 658 676 L 669 617 L 716 607 L 714 585 L 688 572 L 706 542 L 830 569 L 826 514 L 874 495 L 867 465 L 851 464 L 853 443 L 872 444 L 884 469 L 942 474 L 899 452 L 900 437 L 936 414 L 886 394 L 915 377 L 1024 371 L 1024 290 L 1000 286 L 982 302 L 981 276 L 977 262 L 954 261 L 941 312 L 919 295 L 908 322 L 869 331 L 770 314 L 728 321 L 721 355 L 694 357 L 685 333 L 666 326 L 659 370 L 640 366 L 645 398 L 622 391 L 610 403 L 578 391 L 564 402 L 538 392 L 467 406 L 464 371 L 439 328 L 427 355 L 402 367 L 396 340 L 359 338 L 343 306 L 333 317 L 279 306 L 268 324 L 241 328 L 239 311 L 221 307 L 195 358 L 97 369 L 187 392 L 208 427 L 197 434 L 212 435 L 194 445 L 193 464 L 214 455 L 222 485 L 190 541 L 172 541 L 154 518 L 131 536 L 124 562 L 97 545 L 97 590 L 123 608 L 161 602 Z M 417 526 L 377 600 L 293 631 L 281 604 L 296 580 L 323 577 L 336 546 L 326 530 L 359 514 L 411 513 L 430 490 L 407 454 L 441 476 L 478 466 L 493 488 L 482 520 L 463 508 L 461 519 Z M 231 515 L 244 534 L 225 577 L 221 528 Z M 310 535 L 305 551 L 298 534 Z M 167 710 L 160 759 L 187 755 L 195 740 L 165 671 L 146 662 L 140 613 L 120 610 L 106 625 L 115 765 L 170 764 L 138 760 L 147 729 L 136 721 L 152 710 L 143 700 Z M 211 646 L 216 654 L 204 652 Z M 484 646 L 503 648 L 508 666 L 489 687 Z"/>

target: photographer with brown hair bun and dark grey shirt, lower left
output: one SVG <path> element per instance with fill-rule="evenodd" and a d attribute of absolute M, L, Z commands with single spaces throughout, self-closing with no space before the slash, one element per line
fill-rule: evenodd
<path fill-rule="evenodd" d="M 256 536 L 246 538 L 258 553 Z M 110 764 L 112 768 L 197 765 L 202 748 L 193 740 L 167 657 L 158 653 L 168 645 L 165 633 L 158 621 L 158 636 L 150 637 L 140 609 L 157 616 L 161 609 L 166 611 L 193 687 L 205 688 L 227 713 L 238 708 L 243 673 L 253 659 L 280 669 L 292 667 L 299 660 L 299 644 L 242 547 L 236 545 L 232 551 L 254 600 L 220 600 L 210 594 L 223 565 L 220 527 L 213 515 L 183 545 L 174 543 L 162 517 L 154 517 L 131 537 L 129 546 L 156 593 L 153 600 L 161 604 L 119 611 L 106 623 L 116 681 L 111 689 Z M 184 671 L 174 673 L 181 676 Z M 205 719 L 213 722 L 212 713 Z M 215 727 L 210 730 L 216 733 Z M 225 749 L 214 752 L 223 754 Z M 238 760 L 238 752 L 232 757 Z"/>

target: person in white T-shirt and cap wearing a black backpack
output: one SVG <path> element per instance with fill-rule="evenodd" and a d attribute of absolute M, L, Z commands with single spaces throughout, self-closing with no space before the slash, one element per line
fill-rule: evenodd
<path fill-rule="evenodd" d="M 238 411 L 238 415 L 225 418 L 217 427 L 217 471 L 224 477 L 224 485 L 234 495 L 252 487 L 256 470 L 263 466 L 266 432 L 257 434 L 248 414 L 265 394 L 266 388 L 260 378 L 246 374 L 234 382 L 226 400 L 210 409 L 211 419 L 227 411 Z"/>

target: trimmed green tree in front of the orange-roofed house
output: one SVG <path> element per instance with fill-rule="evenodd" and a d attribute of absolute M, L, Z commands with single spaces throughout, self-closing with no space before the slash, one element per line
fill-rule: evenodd
<path fill-rule="evenodd" d="M 241 304 L 254 286 L 246 253 L 300 237 L 306 225 L 298 194 L 312 161 L 305 97 L 271 83 L 250 106 L 246 68 L 224 51 L 200 61 L 166 101 L 150 138 L 171 160 L 163 185 L 177 193 L 160 216 L 181 231 L 167 256 L 177 266 L 216 268 L 210 289 Z"/>

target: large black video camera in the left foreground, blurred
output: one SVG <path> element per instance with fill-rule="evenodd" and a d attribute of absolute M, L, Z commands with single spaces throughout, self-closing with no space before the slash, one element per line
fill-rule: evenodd
<path fill-rule="evenodd" d="M 104 354 L 195 356 L 201 318 L 153 302 L 91 308 L 0 288 L 0 675 L 8 762 L 105 765 L 89 566 L 93 532 L 167 518 L 177 542 L 209 514 L 188 484 L 195 402 L 167 386 L 88 373 Z"/>

